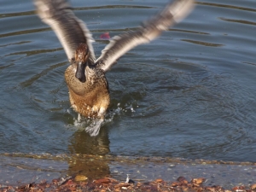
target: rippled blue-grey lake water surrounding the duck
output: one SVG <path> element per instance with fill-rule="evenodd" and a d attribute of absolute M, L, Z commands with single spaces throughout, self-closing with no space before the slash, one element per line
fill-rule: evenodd
<path fill-rule="evenodd" d="M 71 1 L 101 55 L 166 0 Z M 256 160 L 256 1 L 202 0 L 107 73 L 111 106 L 99 136 L 77 124 L 67 57 L 31 1 L 0 7 L 0 154 L 112 154 Z M 84 120 L 86 121 L 86 120 Z M 4 158 L 3 158 L 4 159 Z"/>

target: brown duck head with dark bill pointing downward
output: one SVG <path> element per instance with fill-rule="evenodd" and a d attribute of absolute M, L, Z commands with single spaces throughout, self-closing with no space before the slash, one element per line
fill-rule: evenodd
<path fill-rule="evenodd" d="M 87 44 L 79 44 L 75 52 L 75 63 L 77 66 L 75 77 L 82 83 L 86 80 L 84 70 L 87 65 L 89 55 Z"/>

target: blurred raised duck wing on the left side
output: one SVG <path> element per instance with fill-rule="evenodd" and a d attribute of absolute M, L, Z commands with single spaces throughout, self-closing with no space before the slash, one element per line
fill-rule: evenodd
<path fill-rule="evenodd" d="M 92 47 L 93 38 L 82 20 L 74 14 L 70 5 L 64 0 L 34 0 L 37 13 L 44 23 L 48 24 L 65 49 L 68 60 L 74 58 L 75 50 L 80 43 L 87 44 L 90 60 L 95 61 Z"/>

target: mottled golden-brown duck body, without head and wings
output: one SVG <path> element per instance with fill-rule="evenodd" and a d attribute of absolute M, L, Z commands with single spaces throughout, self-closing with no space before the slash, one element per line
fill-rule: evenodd
<path fill-rule="evenodd" d="M 84 117 L 103 119 L 110 103 L 104 71 L 96 66 L 86 66 L 84 83 L 75 77 L 75 72 L 76 66 L 73 65 L 65 72 L 72 108 Z"/>

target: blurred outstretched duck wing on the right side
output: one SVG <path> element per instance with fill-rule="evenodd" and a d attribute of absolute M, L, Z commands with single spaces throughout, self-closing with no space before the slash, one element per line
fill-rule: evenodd
<path fill-rule="evenodd" d="M 120 56 L 139 44 L 146 44 L 157 38 L 161 32 L 189 15 L 193 7 L 194 0 L 176 0 L 174 3 L 168 3 L 158 15 L 140 26 L 138 31 L 125 32 L 113 37 L 102 50 L 102 55 L 97 59 L 96 65 L 108 71 Z"/>

